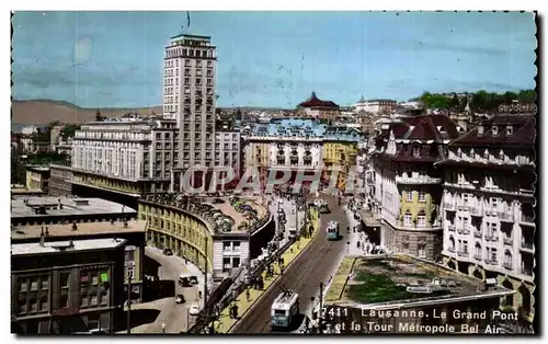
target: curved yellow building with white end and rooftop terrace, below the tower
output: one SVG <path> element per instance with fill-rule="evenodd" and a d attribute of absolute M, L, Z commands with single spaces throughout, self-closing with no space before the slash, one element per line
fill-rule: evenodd
<path fill-rule="evenodd" d="M 149 195 L 139 202 L 139 219 L 148 223 L 150 245 L 169 248 L 202 271 L 207 266 L 213 279 L 220 280 L 262 253 L 275 225 L 261 199 L 244 200 L 256 211 L 254 219 L 244 218 L 229 203 L 212 200 Z"/>

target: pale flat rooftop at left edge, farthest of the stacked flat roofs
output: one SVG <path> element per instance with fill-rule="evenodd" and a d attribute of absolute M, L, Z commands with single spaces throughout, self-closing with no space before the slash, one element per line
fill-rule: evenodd
<path fill-rule="evenodd" d="M 45 214 L 39 214 L 39 208 Z M 13 195 L 11 199 L 11 218 L 78 216 L 106 214 L 136 214 L 135 209 L 101 198 L 65 198 L 50 196 Z"/>

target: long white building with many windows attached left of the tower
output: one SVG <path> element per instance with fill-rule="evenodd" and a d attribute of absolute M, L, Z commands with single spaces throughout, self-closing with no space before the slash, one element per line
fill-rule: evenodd
<path fill-rule="evenodd" d="M 168 192 L 179 131 L 170 119 L 92 122 L 76 131 L 71 153 L 73 184 L 134 196 Z"/>

